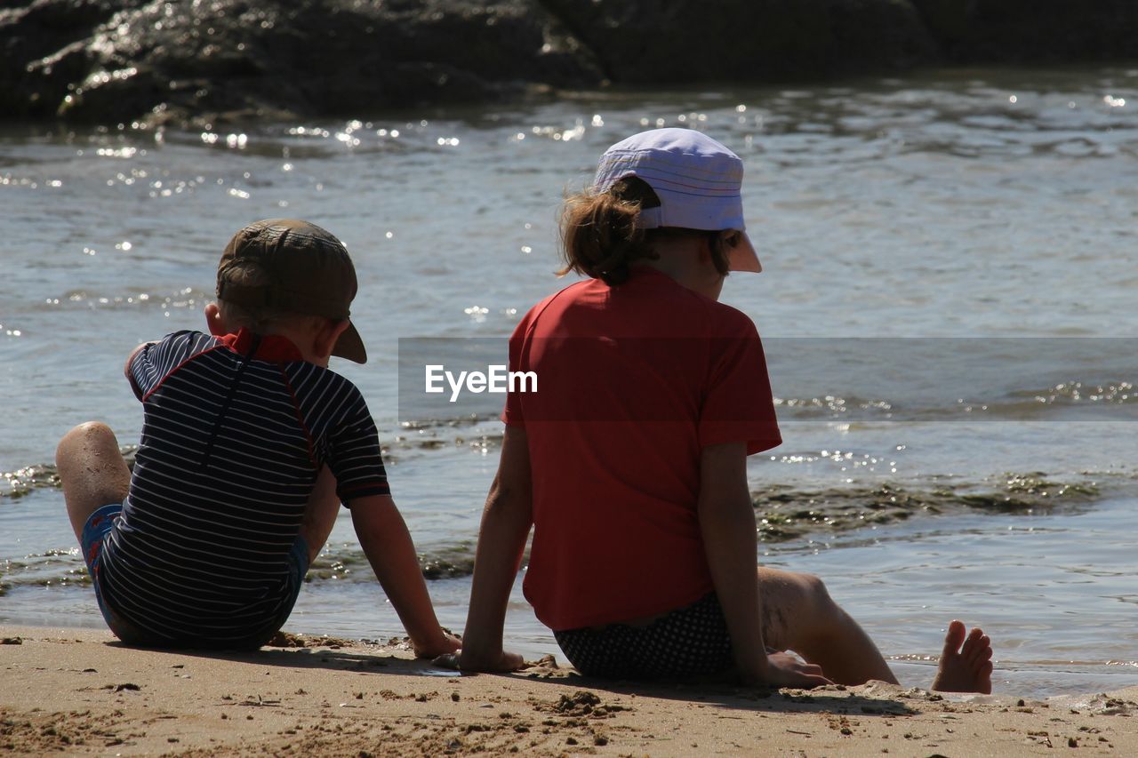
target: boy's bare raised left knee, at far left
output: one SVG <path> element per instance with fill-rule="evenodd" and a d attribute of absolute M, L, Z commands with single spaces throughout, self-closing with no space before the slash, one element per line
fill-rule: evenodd
<path fill-rule="evenodd" d="M 81 423 L 64 436 L 56 448 L 56 469 L 76 539 L 91 513 L 123 502 L 131 485 L 115 432 L 98 421 Z"/>

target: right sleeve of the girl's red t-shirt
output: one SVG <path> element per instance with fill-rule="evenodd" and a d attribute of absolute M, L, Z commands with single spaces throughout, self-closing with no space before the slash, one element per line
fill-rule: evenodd
<path fill-rule="evenodd" d="M 700 445 L 745 442 L 753 455 L 782 444 L 762 343 L 743 314 L 734 337 L 716 337 L 700 407 Z"/>

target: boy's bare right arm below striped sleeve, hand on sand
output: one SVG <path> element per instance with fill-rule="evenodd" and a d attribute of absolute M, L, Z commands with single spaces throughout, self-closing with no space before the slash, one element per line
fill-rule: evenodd
<path fill-rule="evenodd" d="M 411 637 L 415 654 L 435 658 L 457 650 L 461 643 L 443 632 L 435 616 L 414 543 L 391 496 L 368 495 L 353 500 L 352 526 Z"/>

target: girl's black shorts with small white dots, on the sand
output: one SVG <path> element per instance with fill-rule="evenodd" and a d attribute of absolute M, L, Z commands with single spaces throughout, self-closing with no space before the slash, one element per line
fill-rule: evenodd
<path fill-rule="evenodd" d="M 721 674 L 735 664 L 731 634 L 715 593 L 636 627 L 568 629 L 553 636 L 586 676 L 654 679 Z"/>

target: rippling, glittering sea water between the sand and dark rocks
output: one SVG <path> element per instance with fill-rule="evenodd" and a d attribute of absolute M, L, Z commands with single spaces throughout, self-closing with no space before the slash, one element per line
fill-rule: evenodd
<path fill-rule="evenodd" d="M 504 338 L 567 283 L 556 214 L 610 143 L 706 131 L 747 165 L 784 444 L 753 456 L 765 565 L 822 576 L 906 684 L 954 617 L 998 689 L 1138 684 L 1138 69 L 954 69 L 794 88 L 198 131 L 0 133 L 0 623 L 101 626 L 50 479 L 99 419 L 137 442 L 140 341 L 201 328 L 221 248 L 296 216 L 347 244 L 363 390 L 440 617 L 461 628 L 501 423 L 401 413 L 399 340 Z M 405 389 L 405 388 L 404 388 Z M 413 421 L 411 423 L 410 421 Z M 520 582 L 518 583 L 520 585 Z M 402 628 L 341 518 L 290 631 Z M 508 644 L 556 652 L 514 588 Z"/>

